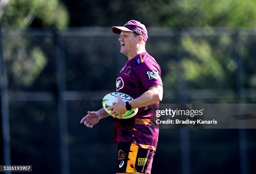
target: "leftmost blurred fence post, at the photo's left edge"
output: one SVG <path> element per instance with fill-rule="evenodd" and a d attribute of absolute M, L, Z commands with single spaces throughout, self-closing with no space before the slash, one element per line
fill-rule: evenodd
<path fill-rule="evenodd" d="M 10 122 L 9 122 L 9 108 L 8 108 L 8 77 L 6 64 L 3 54 L 3 36 L 2 27 L 0 25 L 0 62 L 1 62 L 1 114 L 2 114 L 2 128 L 3 128 L 3 162 L 4 165 L 11 165 L 10 155 Z M 5 172 L 11 174 L 11 172 Z"/>

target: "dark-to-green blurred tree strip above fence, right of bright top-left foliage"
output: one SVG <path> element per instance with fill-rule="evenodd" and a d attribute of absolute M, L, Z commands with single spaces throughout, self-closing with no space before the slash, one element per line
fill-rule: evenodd
<path fill-rule="evenodd" d="M 138 20 L 154 27 L 255 27 L 254 0 L 63 0 L 71 26 L 112 26 Z M 83 19 L 83 20 L 81 20 Z"/>

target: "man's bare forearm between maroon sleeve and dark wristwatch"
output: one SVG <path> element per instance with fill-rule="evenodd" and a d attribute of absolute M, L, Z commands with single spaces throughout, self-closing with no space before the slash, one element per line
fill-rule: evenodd
<path fill-rule="evenodd" d="M 140 97 L 133 99 L 129 102 L 132 109 L 139 107 L 146 107 L 148 105 L 160 102 L 163 96 L 162 87 L 152 87 L 148 91 L 144 92 Z"/>

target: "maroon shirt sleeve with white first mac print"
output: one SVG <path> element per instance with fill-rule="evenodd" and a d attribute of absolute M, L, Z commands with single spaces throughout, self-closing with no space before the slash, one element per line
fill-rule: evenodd
<path fill-rule="evenodd" d="M 161 69 L 158 64 L 151 61 L 145 61 L 141 63 L 138 72 L 145 89 L 155 85 L 163 86 L 161 80 Z"/>

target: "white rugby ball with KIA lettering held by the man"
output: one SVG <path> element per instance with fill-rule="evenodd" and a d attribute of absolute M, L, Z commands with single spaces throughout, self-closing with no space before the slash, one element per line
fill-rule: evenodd
<path fill-rule="evenodd" d="M 108 114 L 110 114 L 111 110 L 108 110 L 108 107 L 112 106 L 117 102 L 117 95 L 120 95 L 121 99 L 123 99 L 124 102 L 130 101 L 133 98 L 129 96 L 128 94 L 124 94 L 122 92 L 111 92 L 102 99 L 102 106 L 105 109 Z M 112 109 L 113 110 L 113 109 Z M 133 116 L 135 116 L 138 112 L 138 108 L 131 109 L 129 111 L 126 111 L 123 115 L 121 115 L 121 119 L 128 119 Z M 112 115 L 113 116 L 113 115 Z"/>

